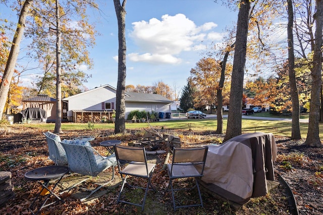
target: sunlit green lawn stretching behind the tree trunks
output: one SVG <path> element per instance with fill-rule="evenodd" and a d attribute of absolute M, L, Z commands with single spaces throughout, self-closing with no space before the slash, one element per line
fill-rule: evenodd
<path fill-rule="evenodd" d="M 254 114 L 260 116 L 261 113 Z M 27 126 L 34 128 L 41 128 L 45 130 L 53 130 L 55 123 L 43 124 L 15 124 L 9 126 Z M 114 129 L 112 123 L 95 123 L 94 129 Z M 165 130 L 181 129 L 194 131 L 207 131 L 214 133 L 217 129 L 217 119 L 181 119 L 181 120 L 167 120 L 159 122 L 148 123 L 126 123 L 126 129 L 149 128 L 150 126 Z M 289 121 L 274 121 L 274 120 L 255 120 L 242 119 L 242 132 L 266 132 L 274 133 L 275 135 L 291 136 L 292 122 Z M 306 138 L 308 123 L 300 123 L 301 136 Z M 87 123 L 62 123 L 62 130 L 83 130 L 89 129 Z M 227 129 L 227 118 L 224 118 L 224 129 Z M 320 138 L 323 139 L 323 124 L 319 124 Z"/>

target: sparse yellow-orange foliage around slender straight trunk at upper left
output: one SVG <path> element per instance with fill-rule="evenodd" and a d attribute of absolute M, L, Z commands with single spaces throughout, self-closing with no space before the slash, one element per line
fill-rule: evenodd
<path fill-rule="evenodd" d="M 56 20 L 52 15 L 55 1 L 35 2 L 32 19 L 27 20 L 25 36 L 31 39 L 28 45 L 32 58 L 38 59 L 43 74 L 35 83 L 38 92 L 56 94 Z M 61 87 L 68 95 L 79 93 L 79 87 L 90 75 L 82 67 L 91 68 L 88 48 L 95 44 L 95 28 L 89 24 L 86 12 L 95 8 L 93 0 L 71 0 L 60 2 L 61 25 Z"/>

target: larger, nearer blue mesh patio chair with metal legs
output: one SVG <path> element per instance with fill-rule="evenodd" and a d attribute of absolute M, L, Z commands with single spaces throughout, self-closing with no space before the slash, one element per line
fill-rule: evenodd
<path fill-rule="evenodd" d="M 99 173 L 112 167 L 112 179 L 98 184 L 99 186 L 92 190 L 86 197 L 82 198 L 81 201 L 84 201 L 101 187 L 114 180 L 114 166 L 117 166 L 115 154 L 112 154 L 109 157 L 103 157 L 90 146 L 89 142 L 86 144 L 86 141 L 64 139 L 61 144 L 65 149 L 69 167 L 72 172 L 82 175 L 97 176 Z"/>

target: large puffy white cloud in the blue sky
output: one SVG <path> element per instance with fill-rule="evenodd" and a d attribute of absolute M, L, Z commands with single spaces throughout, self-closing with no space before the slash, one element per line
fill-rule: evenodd
<path fill-rule="evenodd" d="M 132 25 L 130 37 L 139 51 L 128 56 L 136 62 L 180 63 L 182 60 L 178 55 L 182 52 L 201 50 L 201 41 L 221 37 L 221 34 L 211 31 L 218 26 L 216 23 L 196 26 L 183 14 L 164 15 L 161 20 L 152 18 L 148 22 L 133 22 Z"/>

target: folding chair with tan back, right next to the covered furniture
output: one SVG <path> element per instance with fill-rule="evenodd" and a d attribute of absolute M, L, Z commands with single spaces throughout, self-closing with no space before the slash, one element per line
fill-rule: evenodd
<path fill-rule="evenodd" d="M 203 176 L 207 150 L 208 150 L 208 147 L 174 148 L 172 164 L 167 165 L 169 177 L 170 177 L 170 183 L 168 185 L 167 190 L 172 191 L 174 211 L 176 211 L 176 208 L 181 208 L 181 207 L 192 207 L 192 206 L 203 207 L 201 192 L 198 186 L 197 179 Z M 185 188 L 174 189 L 173 181 L 175 179 L 180 179 L 180 178 L 194 178 L 195 185 L 191 188 L 185 187 Z M 171 189 L 169 189 L 169 187 L 171 187 Z M 176 206 L 174 191 L 194 189 L 195 187 L 197 188 L 197 191 L 198 191 L 200 203 Z"/>

